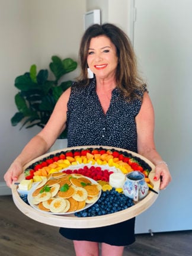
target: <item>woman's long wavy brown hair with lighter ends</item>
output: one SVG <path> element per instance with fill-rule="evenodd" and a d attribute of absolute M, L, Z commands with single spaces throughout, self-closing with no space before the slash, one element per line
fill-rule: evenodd
<path fill-rule="evenodd" d="M 106 36 L 116 46 L 118 65 L 116 70 L 116 86 L 124 97 L 135 98 L 137 89 L 142 89 L 143 80 L 137 71 L 136 56 L 133 52 L 132 43 L 129 37 L 114 24 L 94 24 L 87 28 L 81 39 L 79 48 L 79 62 L 81 74 L 79 82 L 81 85 L 88 85 L 87 57 L 89 44 L 92 38 Z"/>

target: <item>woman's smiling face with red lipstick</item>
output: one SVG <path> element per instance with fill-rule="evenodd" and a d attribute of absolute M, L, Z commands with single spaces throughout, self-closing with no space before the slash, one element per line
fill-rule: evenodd
<path fill-rule="evenodd" d="M 96 78 L 115 78 L 118 57 L 116 47 L 108 37 L 98 36 L 91 39 L 87 63 Z"/>

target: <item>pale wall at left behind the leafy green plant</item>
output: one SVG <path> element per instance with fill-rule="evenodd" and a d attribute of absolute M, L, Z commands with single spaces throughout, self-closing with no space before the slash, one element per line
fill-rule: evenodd
<path fill-rule="evenodd" d="M 11 126 L 17 111 L 14 79 L 33 63 L 49 68 L 53 55 L 78 59 L 85 6 L 85 0 L 0 0 L 0 190 L 12 160 L 39 131 Z M 69 78 L 77 75 L 74 71 Z"/>

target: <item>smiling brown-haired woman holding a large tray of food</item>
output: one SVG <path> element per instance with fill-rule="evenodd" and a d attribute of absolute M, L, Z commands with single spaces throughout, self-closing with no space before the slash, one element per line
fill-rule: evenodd
<path fill-rule="evenodd" d="M 156 152 L 154 114 L 146 85 L 139 78 L 136 59 L 126 34 L 113 24 L 94 24 L 85 31 L 80 46 L 81 78 L 57 101 L 46 127 L 33 137 L 5 174 L 10 186 L 22 167 L 47 152 L 68 127 L 68 146 L 107 145 L 138 152 L 155 164 L 155 180 L 167 187 L 171 175 Z M 94 78 L 87 78 L 87 68 Z M 38 145 L 38 146 L 37 146 Z M 135 218 L 94 229 L 60 228 L 72 239 L 76 255 L 123 254 L 135 241 Z"/>

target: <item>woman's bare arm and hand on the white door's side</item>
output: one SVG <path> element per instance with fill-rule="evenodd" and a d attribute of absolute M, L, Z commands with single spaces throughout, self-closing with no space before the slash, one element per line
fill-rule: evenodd
<path fill-rule="evenodd" d="M 148 158 L 155 165 L 154 180 L 161 177 L 160 189 L 167 187 L 171 181 L 171 174 L 167 164 L 156 151 L 154 142 L 154 111 L 151 99 L 147 92 L 143 95 L 143 102 L 139 114 L 136 117 L 137 125 L 137 150 L 140 155 Z"/>

